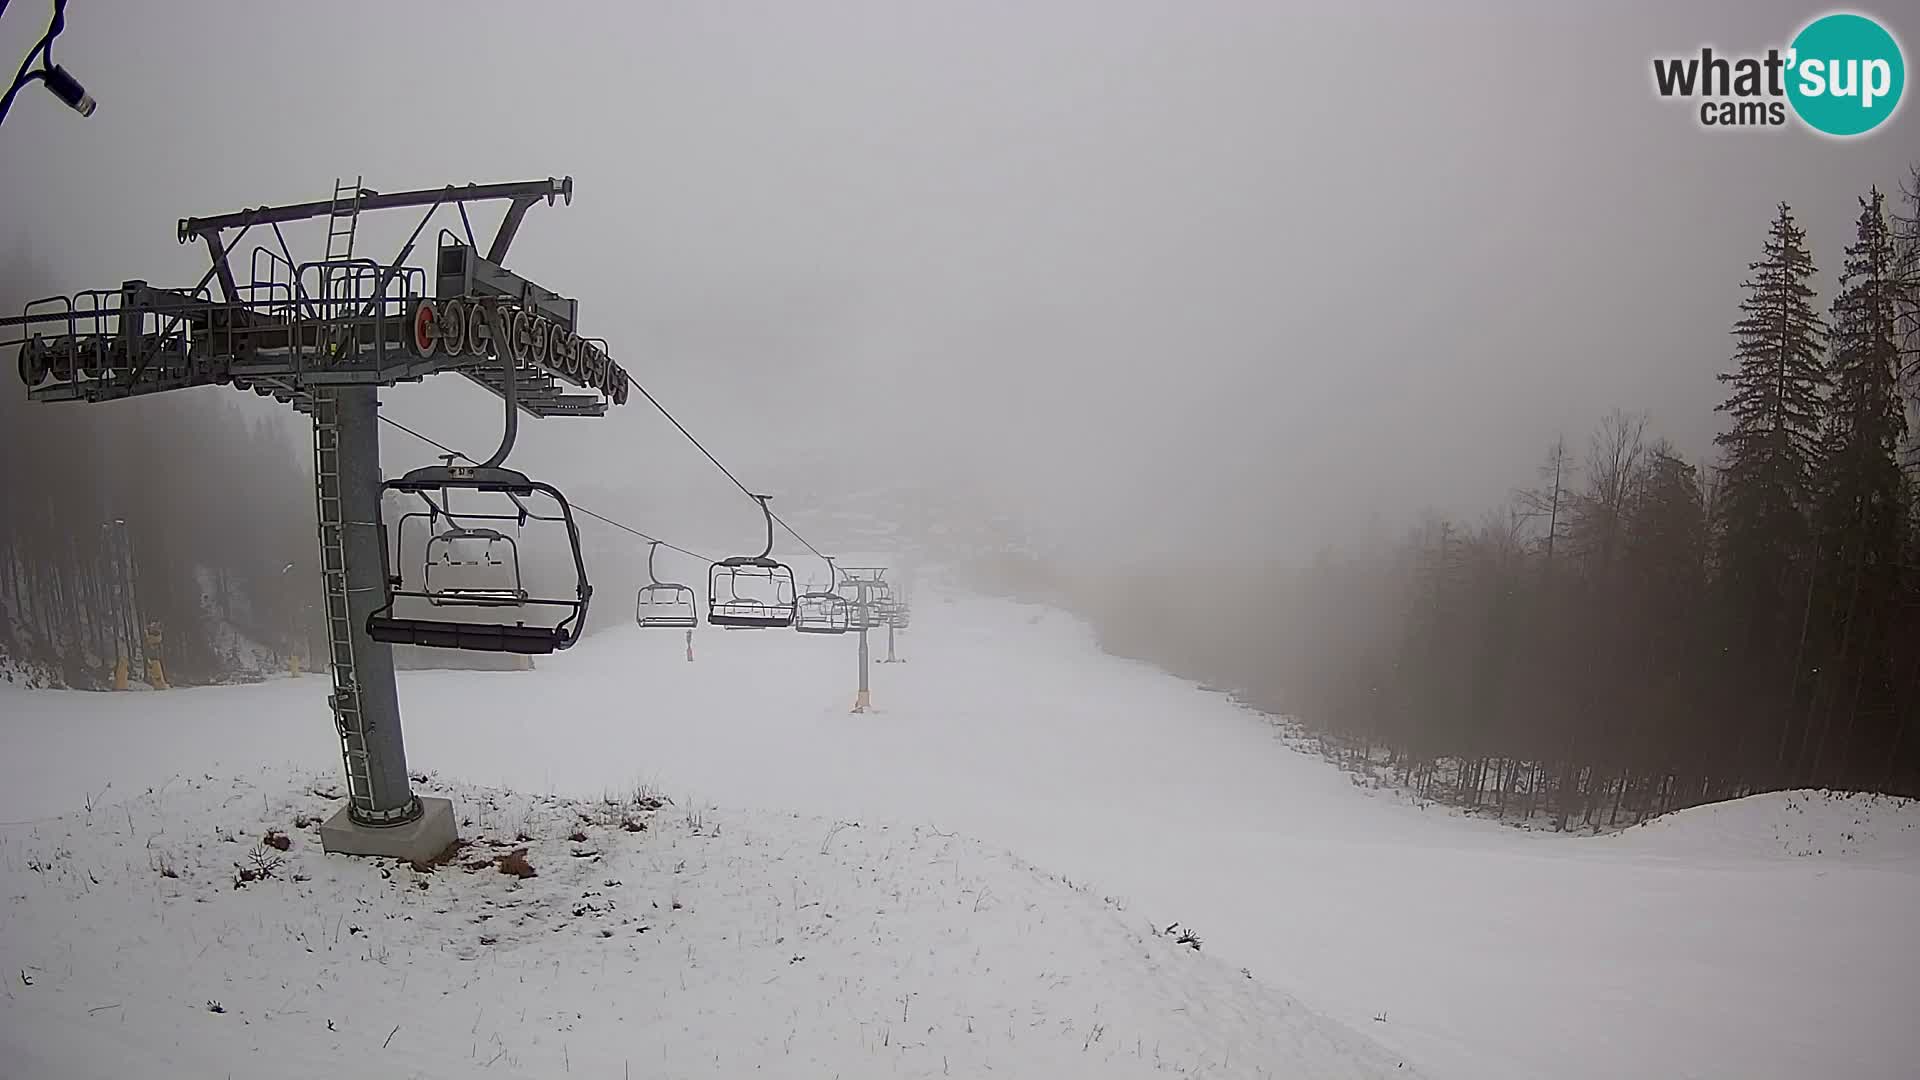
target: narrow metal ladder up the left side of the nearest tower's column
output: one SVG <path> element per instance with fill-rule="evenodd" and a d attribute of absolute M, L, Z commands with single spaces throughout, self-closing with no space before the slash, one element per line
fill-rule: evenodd
<path fill-rule="evenodd" d="M 353 667 L 353 617 L 348 607 L 346 511 L 340 503 L 340 419 L 330 386 L 313 388 L 315 517 L 321 525 L 321 577 L 326 586 L 326 653 L 334 692 L 326 703 L 340 732 L 348 801 L 372 809 L 372 769 L 367 763 L 365 723 Z"/>

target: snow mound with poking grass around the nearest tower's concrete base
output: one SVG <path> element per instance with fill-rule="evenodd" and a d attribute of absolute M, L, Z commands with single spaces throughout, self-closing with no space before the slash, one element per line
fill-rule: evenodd
<path fill-rule="evenodd" d="M 246 1072 L 263 1053 L 286 1078 L 342 1061 L 392 1076 L 1411 1072 L 1117 901 L 952 834 L 428 780 L 468 846 L 419 867 L 323 855 L 326 782 L 179 780 L 0 842 L 19 972 L 0 1061 L 100 1080 Z M 284 855 L 265 844 L 276 828 Z M 513 853 L 534 876 L 501 871 Z"/>

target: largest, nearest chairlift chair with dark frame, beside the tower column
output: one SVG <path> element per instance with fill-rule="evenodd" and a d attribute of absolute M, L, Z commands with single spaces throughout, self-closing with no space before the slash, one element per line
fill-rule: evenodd
<path fill-rule="evenodd" d="M 551 653 L 580 640 L 593 586 L 588 582 L 586 559 L 580 553 L 580 528 L 559 488 L 530 480 L 513 469 L 463 467 L 449 459 L 447 465 L 428 465 L 384 482 L 382 496 L 386 492 L 417 498 L 426 509 L 401 515 L 388 548 L 386 500 L 380 500 L 382 555 L 388 555 L 386 603 L 367 617 L 367 636 L 392 646 L 509 653 Z M 453 509 L 449 503 L 453 492 L 488 498 L 482 509 L 465 505 Z M 557 511 L 536 513 L 528 505 L 534 500 L 551 502 Z M 442 517 L 451 528 L 434 532 Z M 430 532 L 419 577 L 405 573 L 415 565 L 405 559 L 411 523 L 424 523 Z M 541 532 L 561 530 L 572 555 L 572 596 L 532 594 L 520 578 L 518 544 L 482 523 L 513 523 L 520 530 L 538 523 L 547 527 Z M 501 550 L 511 552 L 511 561 L 499 557 Z M 403 573 L 394 573 L 394 563 L 399 563 Z M 415 607 L 419 601 L 424 601 L 426 611 L 438 611 L 396 613 L 397 605 Z M 480 617 L 484 611 L 501 613 L 509 607 L 515 609 L 513 623 Z M 459 619 L 455 617 L 459 611 L 472 611 L 474 617 Z M 530 623 L 528 617 L 536 613 L 557 619 Z"/>

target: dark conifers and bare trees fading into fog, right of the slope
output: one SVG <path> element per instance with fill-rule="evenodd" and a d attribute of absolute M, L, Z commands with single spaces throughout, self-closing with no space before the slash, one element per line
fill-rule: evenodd
<path fill-rule="evenodd" d="M 1615 411 L 1507 505 L 1323 552 L 1225 619 L 1192 569 L 1091 613 L 1116 651 L 1294 717 L 1356 773 L 1488 813 L 1576 828 L 1774 788 L 1920 796 L 1920 169 L 1859 196 L 1824 273 L 1818 309 L 1782 204 L 1713 461 Z"/>

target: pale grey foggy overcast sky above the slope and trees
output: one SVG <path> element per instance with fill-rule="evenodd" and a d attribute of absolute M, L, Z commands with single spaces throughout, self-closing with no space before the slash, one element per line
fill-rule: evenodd
<path fill-rule="evenodd" d="M 1476 517 L 1615 405 L 1711 452 L 1774 204 L 1824 304 L 1920 121 L 1715 135 L 1649 60 L 1764 50 L 1820 10 L 75 0 L 56 58 L 100 111 L 15 102 L 0 254 L 48 292 L 190 284 L 180 215 L 340 173 L 572 175 L 509 265 L 578 296 L 749 482 L 985 490 L 1117 557 L 1298 553 L 1373 511 Z M 1912 63 L 1920 12 L 1868 12 Z M 13 0 L 0 56 L 44 21 Z M 415 223 L 382 217 L 363 252 Z M 388 411 L 482 446 L 492 400 L 457 382 Z M 630 486 L 670 538 L 730 505 L 753 546 L 676 440 L 636 400 L 528 425 L 515 463 Z"/>

